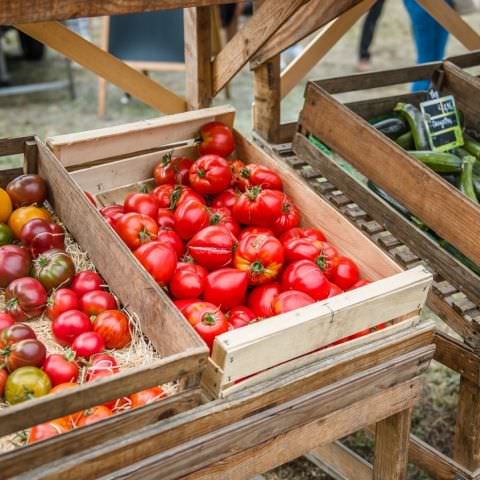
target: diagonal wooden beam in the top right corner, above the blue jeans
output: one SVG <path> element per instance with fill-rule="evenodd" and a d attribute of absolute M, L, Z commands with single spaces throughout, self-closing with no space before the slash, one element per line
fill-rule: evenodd
<path fill-rule="evenodd" d="M 465 48 L 480 49 L 480 35 L 447 2 L 438 0 L 417 0 L 417 2 Z"/>

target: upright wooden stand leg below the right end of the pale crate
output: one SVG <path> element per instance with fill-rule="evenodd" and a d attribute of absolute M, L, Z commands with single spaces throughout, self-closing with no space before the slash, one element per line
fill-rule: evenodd
<path fill-rule="evenodd" d="M 412 409 L 377 423 L 373 480 L 405 480 Z"/>

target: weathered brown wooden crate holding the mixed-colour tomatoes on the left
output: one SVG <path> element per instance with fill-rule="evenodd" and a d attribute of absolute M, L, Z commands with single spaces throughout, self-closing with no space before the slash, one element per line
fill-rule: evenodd
<path fill-rule="evenodd" d="M 9 179 L 24 171 L 38 171 L 49 185 L 49 201 L 55 213 L 81 248 L 88 252 L 122 305 L 138 316 L 144 334 L 160 355 L 158 360 L 147 366 L 125 369 L 108 379 L 85 383 L 74 390 L 1 409 L 0 436 L 176 380 L 181 381 L 179 391 L 183 393 L 152 404 L 143 412 L 132 410 L 115 415 L 100 426 L 99 432 L 105 435 L 104 438 L 114 438 L 116 429 L 122 431 L 131 428 L 132 424 L 138 426 L 156 421 L 163 415 L 173 415 L 198 405 L 201 401 L 199 374 L 208 355 L 203 343 L 177 312 L 173 309 L 172 312 L 165 311 L 158 299 L 158 287 L 126 255 L 122 242 L 109 238 L 106 224 L 92 215 L 89 201 L 65 175 L 50 150 L 35 137 L 0 140 L 0 156 L 14 154 L 24 154 L 25 169 L 0 171 L 0 184 L 4 186 Z M 128 289 L 125 288 L 126 276 L 129 279 Z M 76 435 L 80 442 L 88 438 L 89 431 L 89 427 L 78 430 Z M 62 441 L 63 435 L 58 442 Z M 18 450 L 30 451 L 30 448 L 33 447 Z M 3 461 L 16 455 L 17 451 L 0 455 L 0 478 Z"/>

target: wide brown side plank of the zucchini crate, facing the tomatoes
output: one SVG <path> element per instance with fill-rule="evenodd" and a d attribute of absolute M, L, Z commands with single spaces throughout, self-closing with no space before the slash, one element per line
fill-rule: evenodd
<path fill-rule="evenodd" d="M 323 118 L 330 121 L 324 122 Z M 438 235 L 480 263 L 478 205 L 313 84 L 307 87 L 301 124 Z M 352 141 L 345 142 L 345 138 Z M 445 198 L 448 201 L 443 201 Z M 465 229 L 465 225 L 470 228 Z"/>

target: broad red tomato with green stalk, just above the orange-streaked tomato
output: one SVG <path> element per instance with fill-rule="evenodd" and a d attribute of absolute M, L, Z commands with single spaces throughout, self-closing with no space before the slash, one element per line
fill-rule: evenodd
<path fill-rule="evenodd" d="M 233 218 L 244 225 L 270 228 L 274 219 L 281 215 L 283 195 L 277 190 L 252 187 L 238 198 L 232 209 Z"/>

